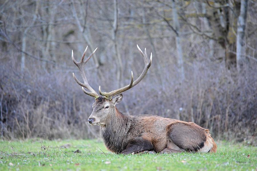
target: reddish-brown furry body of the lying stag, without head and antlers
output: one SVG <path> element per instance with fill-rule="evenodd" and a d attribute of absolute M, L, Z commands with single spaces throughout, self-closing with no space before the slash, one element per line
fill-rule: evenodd
<path fill-rule="evenodd" d="M 106 124 L 101 126 L 101 136 L 107 149 L 115 153 L 130 154 L 146 150 L 161 152 L 165 148 L 177 151 L 216 152 L 216 144 L 208 130 L 192 122 L 152 115 L 128 116 L 120 113 L 116 107 L 115 112 L 109 117 Z M 187 142 L 182 139 L 174 144 L 172 139 L 177 137 L 172 137 L 170 132 L 172 127 L 177 124 L 191 128 L 191 132 L 195 132 L 192 130 L 198 131 L 197 135 L 193 137 L 193 142 L 190 139 Z M 183 134 L 180 132 L 175 136 L 182 136 L 181 133 Z M 211 143 L 208 143 L 207 140 Z M 126 150 L 129 144 L 138 141 L 142 143 L 142 146 L 136 145 L 135 148 Z"/>

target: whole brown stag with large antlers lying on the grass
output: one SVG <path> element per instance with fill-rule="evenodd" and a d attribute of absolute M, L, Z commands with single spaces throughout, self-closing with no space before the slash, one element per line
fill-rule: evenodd
<path fill-rule="evenodd" d="M 73 77 L 82 86 L 83 92 L 95 98 L 93 112 L 88 118 L 88 123 L 101 126 L 101 135 L 107 149 L 121 154 L 144 151 L 168 153 L 182 151 L 216 152 L 217 146 L 209 130 L 193 122 L 152 115 L 130 116 L 119 112 L 116 104 L 119 104 L 123 98 L 121 93 L 137 85 L 144 78 L 152 63 L 152 53 L 148 62 L 146 49 L 143 53 L 138 45 L 137 48 L 144 59 L 142 74 L 134 81 L 131 71 L 130 84 L 111 92 L 102 92 L 99 86 L 99 93 L 102 96 L 99 96 L 89 85 L 84 72 L 85 63 L 94 55 L 97 48 L 84 61 L 86 48 L 80 62 L 75 61 L 72 51 L 72 60 L 79 68 L 84 83 L 81 83 L 74 73 Z"/>

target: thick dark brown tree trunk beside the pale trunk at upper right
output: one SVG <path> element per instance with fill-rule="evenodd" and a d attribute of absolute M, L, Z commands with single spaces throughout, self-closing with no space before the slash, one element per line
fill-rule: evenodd
<path fill-rule="evenodd" d="M 214 32 L 217 42 L 224 49 L 224 61 L 228 69 L 236 66 L 236 55 L 234 54 L 236 51 L 236 34 L 234 30 L 237 27 L 239 5 L 239 1 L 234 1 L 233 4 L 230 4 L 233 7 L 232 11 L 226 1 L 219 1 L 211 7 L 208 6 L 208 9 L 206 9 L 210 27 Z M 217 8 L 219 6 L 223 7 Z"/>

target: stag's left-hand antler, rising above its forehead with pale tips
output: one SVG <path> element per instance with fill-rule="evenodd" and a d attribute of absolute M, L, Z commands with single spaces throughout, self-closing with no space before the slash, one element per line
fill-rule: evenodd
<path fill-rule="evenodd" d="M 84 91 L 84 93 L 86 93 L 87 95 L 89 96 L 92 96 L 92 97 L 95 97 L 95 98 L 98 98 L 99 95 L 97 94 L 97 92 L 88 84 L 88 81 L 87 81 L 87 77 L 85 75 L 85 71 L 84 71 L 84 66 L 85 66 L 85 63 L 87 63 L 87 61 L 94 55 L 95 51 L 97 50 L 97 48 L 93 51 L 93 53 L 91 53 L 91 55 L 84 61 L 84 57 L 86 55 L 86 52 L 87 52 L 87 48 L 85 49 L 82 57 L 81 57 L 81 60 L 80 62 L 77 62 L 75 59 L 74 59 L 74 56 L 73 56 L 73 50 L 71 51 L 71 58 L 73 60 L 73 62 L 75 63 L 75 65 L 77 65 L 77 67 L 79 68 L 79 71 L 81 73 L 81 76 L 82 76 L 82 79 L 84 81 L 84 83 L 81 83 L 77 78 L 76 76 L 73 74 L 73 78 L 75 79 L 75 81 L 82 86 L 82 90 Z M 86 91 L 85 88 L 87 88 L 90 92 Z"/>

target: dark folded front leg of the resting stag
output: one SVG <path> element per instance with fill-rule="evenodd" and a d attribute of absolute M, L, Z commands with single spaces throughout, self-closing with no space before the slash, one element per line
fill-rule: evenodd
<path fill-rule="evenodd" d="M 154 150 L 152 143 L 149 140 L 145 140 L 142 137 L 133 138 L 128 142 L 128 145 L 125 150 L 121 152 L 121 154 L 131 154 L 131 153 L 139 153 L 142 151 L 151 151 Z"/>

